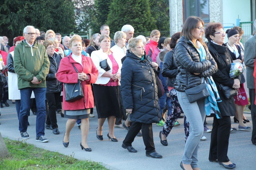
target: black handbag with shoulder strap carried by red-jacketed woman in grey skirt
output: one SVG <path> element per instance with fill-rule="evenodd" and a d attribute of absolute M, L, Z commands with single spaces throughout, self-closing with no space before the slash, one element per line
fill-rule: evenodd
<path fill-rule="evenodd" d="M 72 65 L 75 71 L 79 73 L 73 63 Z M 64 83 L 64 89 L 66 102 L 74 102 L 84 97 L 84 92 L 80 80 L 77 83 Z"/>

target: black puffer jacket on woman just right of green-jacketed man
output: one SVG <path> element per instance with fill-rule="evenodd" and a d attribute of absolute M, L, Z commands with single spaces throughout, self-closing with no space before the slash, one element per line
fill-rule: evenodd
<path fill-rule="evenodd" d="M 54 57 L 56 58 L 56 62 L 54 60 Z M 49 73 L 46 76 L 46 93 L 63 91 L 63 83 L 59 82 L 55 78 L 55 74 L 59 69 L 61 56 L 59 54 L 54 53 L 53 57 L 48 55 L 48 58 L 50 61 L 50 68 L 49 68 Z"/>

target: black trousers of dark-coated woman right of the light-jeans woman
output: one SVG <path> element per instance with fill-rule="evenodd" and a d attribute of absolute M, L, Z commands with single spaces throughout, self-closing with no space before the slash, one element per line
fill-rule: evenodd
<path fill-rule="evenodd" d="M 218 159 L 219 162 L 229 162 L 228 142 L 231 129 L 230 116 L 221 119 L 213 118 L 209 160 Z"/>

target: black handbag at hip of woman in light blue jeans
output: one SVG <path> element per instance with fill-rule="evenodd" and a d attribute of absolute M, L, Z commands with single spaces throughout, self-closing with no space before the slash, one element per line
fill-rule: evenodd
<path fill-rule="evenodd" d="M 205 83 L 185 89 L 185 93 L 187 94 L 189 103 L 194 103 L 210 96 Z"/>

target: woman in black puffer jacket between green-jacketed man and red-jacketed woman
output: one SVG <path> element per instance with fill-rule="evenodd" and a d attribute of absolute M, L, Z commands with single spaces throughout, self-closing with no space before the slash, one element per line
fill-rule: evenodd
<path fill-rule="evenodd" d="M 46 113 L 46 129 L 52 129 L 53 134 L 59 134 L 56 105 L 60 99 L 60 93 L 63 91 L 63 83 L 56 78 L 56 73 L 59 69 L 61 56 L 54 51 L 54 42 L 51 40 L 44 41 L 44 47 L 50 61 L 49 73 L 46 76 L 46 101 L 48 104 L 48 112 Z"/>

